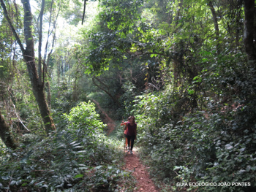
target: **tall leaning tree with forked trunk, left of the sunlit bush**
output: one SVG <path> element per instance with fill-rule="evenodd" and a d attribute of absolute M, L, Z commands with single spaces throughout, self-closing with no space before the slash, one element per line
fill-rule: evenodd
<path fill-rule="evenodd" d="M 50 131 L 53 131 L 55 129 L 55 125 L 53 123 L 53 119 L 50 117 L 50 110 L 48 108 L 48 104 L 45 99 L 45 91 L 44 91 L 45 85 L 44 85 L 44 81 L 42 80 L 44 75 L 40 75 L 39 77 L 39 74 L 37 72 L 35 53 L 34 53 L 34 37 L 32 34 L 32 14 L 31 14 L 31 7 L 30 7 L 29 0 L 22 0 L 23 11 L 24 11 L 23 26 L 24 26 L 26 48 L 23 47 L 23 44 L 21 43 L 20 38 L 18 37 L 18 34 L 16 33 L 14 26 L 12 25 L 12 20 L 10 20 L 4 1 L 3 0 L 0 0 L 0 1 L 1 1 L 1 7 L 4 10 L 4 16 L 10 25 L 10 28 L 12 30 L 12 33 L 15 36 L 15 39 L 18 42 L 18 45 L 20 46 L 20 50 L 23 54 L 23 59 L 24 61 L 26 61 L 26 66 L 29 72 L 33 93 L 37 100 L 37 104 L 39 106 L 39 111 L 42 116 L 42 120 L 45 123 L 45 131 L 49 134 Z M 40 25 L 42 25 L 42 22 L 40 23 Z M 42 33 L 42 31 L 40 32 Z M 40 67 L 41 66 L 39 66 L 39 68 Z M 39 73 L 41 73 L 41 71 Z"/>

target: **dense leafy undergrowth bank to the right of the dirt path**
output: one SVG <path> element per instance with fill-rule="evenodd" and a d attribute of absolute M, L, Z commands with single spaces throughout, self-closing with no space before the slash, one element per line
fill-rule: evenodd
<path fill-rule="evenodd" d="M 135 100 L 142 157 L 159 186 L 165 185 L 163 191 L 255 190 L 256 89 L 251 76 L 243 80 L 250 91 L 239 78 L 236 107 L 208 99 L 207 111 L 189 112 L 186 100 L 178 97 L 183 91 L 171 88 Z M 192 182 L 219 186 L 177 186 Z"/>

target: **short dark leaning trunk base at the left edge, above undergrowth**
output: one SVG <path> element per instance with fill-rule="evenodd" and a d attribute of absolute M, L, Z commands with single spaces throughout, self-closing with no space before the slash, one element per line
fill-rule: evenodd
<path fill-rule="evenodd" d="M 7 123 L 4 120 L 4 116 L 1 115 L 1 111 L 0 111 L 0 137 L 7 147 L 10 147 L 12 149 L 15 149 L 17 147 L 11 135 L 10 127 L 7 126 Z"/>

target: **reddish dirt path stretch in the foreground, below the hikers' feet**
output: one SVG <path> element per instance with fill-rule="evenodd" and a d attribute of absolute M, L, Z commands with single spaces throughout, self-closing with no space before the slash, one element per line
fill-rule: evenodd
<path fill-rule="evenodd" d="M 132 171 L 132 175 L 137 180 L 134 192 L 159 192 L 147 172 L 148 168 L 141 164 L 136 147 L 132 151 L 132 155 L 126 153 L 124 161 L 125 169 Z"/>

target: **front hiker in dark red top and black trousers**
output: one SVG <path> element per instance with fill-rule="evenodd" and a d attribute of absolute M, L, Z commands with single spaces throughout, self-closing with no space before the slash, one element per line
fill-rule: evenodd
<path fill-rule="evenodd" d="M 126 124 L 124 130 L 127 130 L 127 141 L 128 141 L 128 150 L 127 153 L 132 154 L 133 143 L 135 142 L 137 135 L 137 123 L 135 123 L 135 117 L 131 116 L 129 123 Z"/>

